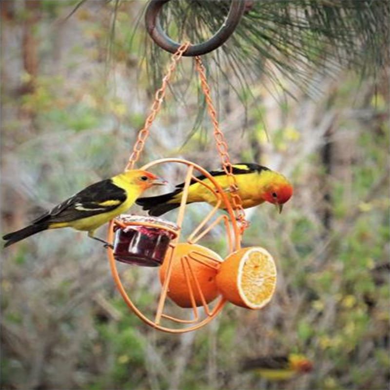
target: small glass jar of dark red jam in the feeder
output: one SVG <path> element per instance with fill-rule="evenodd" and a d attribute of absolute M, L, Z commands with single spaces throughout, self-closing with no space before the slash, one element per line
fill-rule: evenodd
<path fill-rule="evenodd" d="M 169 243 L 176 237 L 174 231 L 178 230 L 178 226 L 164 219 L 149 216 L 120 215 L 118 219 L 127 226 L 114 227 L 115 259 L 146 267 L 160 266 Z M 144 226 L 142 223 L 156 224 L 159 227 Z"/>

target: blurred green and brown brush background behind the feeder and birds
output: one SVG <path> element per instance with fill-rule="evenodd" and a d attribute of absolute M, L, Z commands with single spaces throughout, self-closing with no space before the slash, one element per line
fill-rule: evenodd
<path fill-rule="evenodd" d="M 270 3 L 255 2 L 247 17 Z M 313 3 L 343 7 L 336 0 Z M 389 3 L 373 3 L 386 14 Z M 169 60 L 146 37 L 144 7 L 144 1 L 1 1 L 2 234 L 125 166 Z M 305 10 L 291 12 L 310 18 Z M 270 20 L 264 15 L 259 23 Z M 384 40 L 388 27 L 378 35 Z M 248 47 L 257 43 L 267 52 L 256 34 L 247 34 L 248 59 L 256 57 Z M 237 36 L 245 40 L 245 31 Z M 302 42 L 295 41 L 297 50 Z M 364 43 L 351 50 L 370 54 L 379 47 Z M 229 47 L 245 47 L 230 45 L 208 56 L 207 68 L 232 160 L 278 170 L 294 186 L 281 215 L 270 204 L 247 212 L 243 246 L 266 248 L 277 264 L 273 300 L 260 311 L 228 304 L 198 331 L 159 332 L 128 311 L 101 245 L 72 230 L 44 232 L 2 251 L 2 389 L 388 387 L 388 46 L 377 52 L 383 63 L 372 64 L 370 54 L 355 69 L 343 65 L 340 53 L 323 55 L 325 44 L 300 65 L 287 47 L 285 57 L 275 57 L 284 67 L 268 58 L 247 69 L 226 60 Z M 345 47 L 343 53 L 349 56 Z M 183 59 L 140 163 L 181 157 L 206 169 L 220 166 L 193 71 Z M 173 169 L 164 177 L 178 180 Z M 199 210 L 189 208 L 187 223 Z M 209 246 L 225 243 L 211 235 Z M 137 299 L 154 305 L 157 271 L 121 270 Z M 241 368 L 246 358 L 291 352 L 305 354 L 312 372 L 269 381 Z"/>

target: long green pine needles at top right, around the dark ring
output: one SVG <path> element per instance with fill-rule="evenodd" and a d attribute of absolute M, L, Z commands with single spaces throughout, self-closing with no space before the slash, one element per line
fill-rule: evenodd
<path fill-rule="evenodd" d="M 202 42 L 222 25 L 228 7 L 228 1 L 175 1 L 161 12 L 162 26 L 177 41 Z M 221 53 L 209 56 L 220 68 L 234 66 L 243 84 L 255 72 L 280 87 L 279 71 L 306 89 L 313 69 L 340 64 L 375 74 L 388 61 L 389 15 L 389 3 L 381 0 L 254 1 Z M 156 81 L 162 53 L 155 44 L 148 49 Z"/>

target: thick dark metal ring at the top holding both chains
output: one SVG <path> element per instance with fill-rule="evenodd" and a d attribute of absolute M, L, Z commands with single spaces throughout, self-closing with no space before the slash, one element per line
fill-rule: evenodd
<path fill-rule="evenodd" d="M 158 14 L 162 6 L 169 0 L 151 0 L 145 14 L 145 24 L 149 35 L 162 49 L 176 53 L 180 44 L 169 38 L 168 35 L 161 27 L 161 23 L 158 19 Z M 230 9 L 226 20 L 222 26 L 215 33 L 215 35 L 206 42 L 191 45 L 183 56 L 195 57 L 206 53 L 210 53 L 219 46 L 221 46 L 233 33 L 237 27 L 242 15 L 246 9 L 246 2 L 243 0 L 232 0 Z"/>

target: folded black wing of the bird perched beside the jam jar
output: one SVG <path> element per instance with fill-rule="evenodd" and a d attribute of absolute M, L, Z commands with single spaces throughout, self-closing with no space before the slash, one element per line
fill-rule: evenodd
<path fill-rule="evenodd" d="M 125 190 L 117 187 L 111 179 L 102 180 L 71 196 L 51 211 L 39 216 L 33 223 L 69 222 L 109 212 L 120 206 L 126 198 Z"/>

